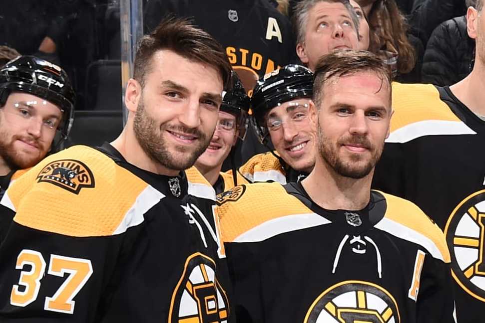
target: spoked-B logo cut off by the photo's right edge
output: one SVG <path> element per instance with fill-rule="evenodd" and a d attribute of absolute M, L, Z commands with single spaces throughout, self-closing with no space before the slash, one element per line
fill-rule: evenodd
<path fill-rule="evenodd" d="M 445 227 L 452 275 L 460 287 L 485 302 L 485 190 L 465 198 Z"/>

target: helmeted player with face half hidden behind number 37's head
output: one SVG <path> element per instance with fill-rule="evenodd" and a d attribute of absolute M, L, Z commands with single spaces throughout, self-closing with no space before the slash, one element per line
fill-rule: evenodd
<path fill-rule="evenodd" d="M 224 91 L 216 131 L 209 147 L 195 162 L 195 166 L 214 187 L 216 194 L 237 184 L 248 183 L 236 170 L 232 148 L 238 138 L 244 140 L 246 136 L 249 97 L 237 74 L 233 73 L 232 80 L 232 87 Z M 222 163 L 229 154 L 233 169 L 221 172 Z"/>

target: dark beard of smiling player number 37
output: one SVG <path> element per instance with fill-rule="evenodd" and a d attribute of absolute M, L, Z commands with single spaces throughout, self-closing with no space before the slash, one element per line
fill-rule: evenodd
<path fill-rule="evenodd" d="M 164 122 L 157 126 L 157 122 L 148 115 L 141 98 L 138 109 L 133 121 L 133 130 L 136 140 L 145 152 L 145 154 L 154 162 L 172 170 L 184 170 L 195 163 L 200 155 L 209 146 L 212 134 L 207 136 L 198 129 L 189 129 L 183 126 L 172 126 Z M 185 134 L 196 136 L 198 145 L 195 148 L 189 148 L 182 145 L 175 145 L 174 151 L 170 151 L 167 143 L 163 138 L 166 130 L 180 131 Z"/>

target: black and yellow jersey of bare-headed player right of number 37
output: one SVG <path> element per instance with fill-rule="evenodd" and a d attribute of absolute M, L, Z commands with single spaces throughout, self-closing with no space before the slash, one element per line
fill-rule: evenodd
<path fill-rule="evenodd" d="M 445 238 L 415 204 L 325 210 L 300 183 L 217 200 L 238 322 L 454 322 Z"/>

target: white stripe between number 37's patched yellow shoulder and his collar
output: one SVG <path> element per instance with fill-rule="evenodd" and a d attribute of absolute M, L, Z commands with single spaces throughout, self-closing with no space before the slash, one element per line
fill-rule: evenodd
<path fill-rule="evenodd" d="M 126 232 L 130 227 L 142 223 L 145 213 L 156 205 L 165 195 L 160 191 L 148 185 L 135 200 L 135 203 L 125 213 L 113 235 Z"/>

